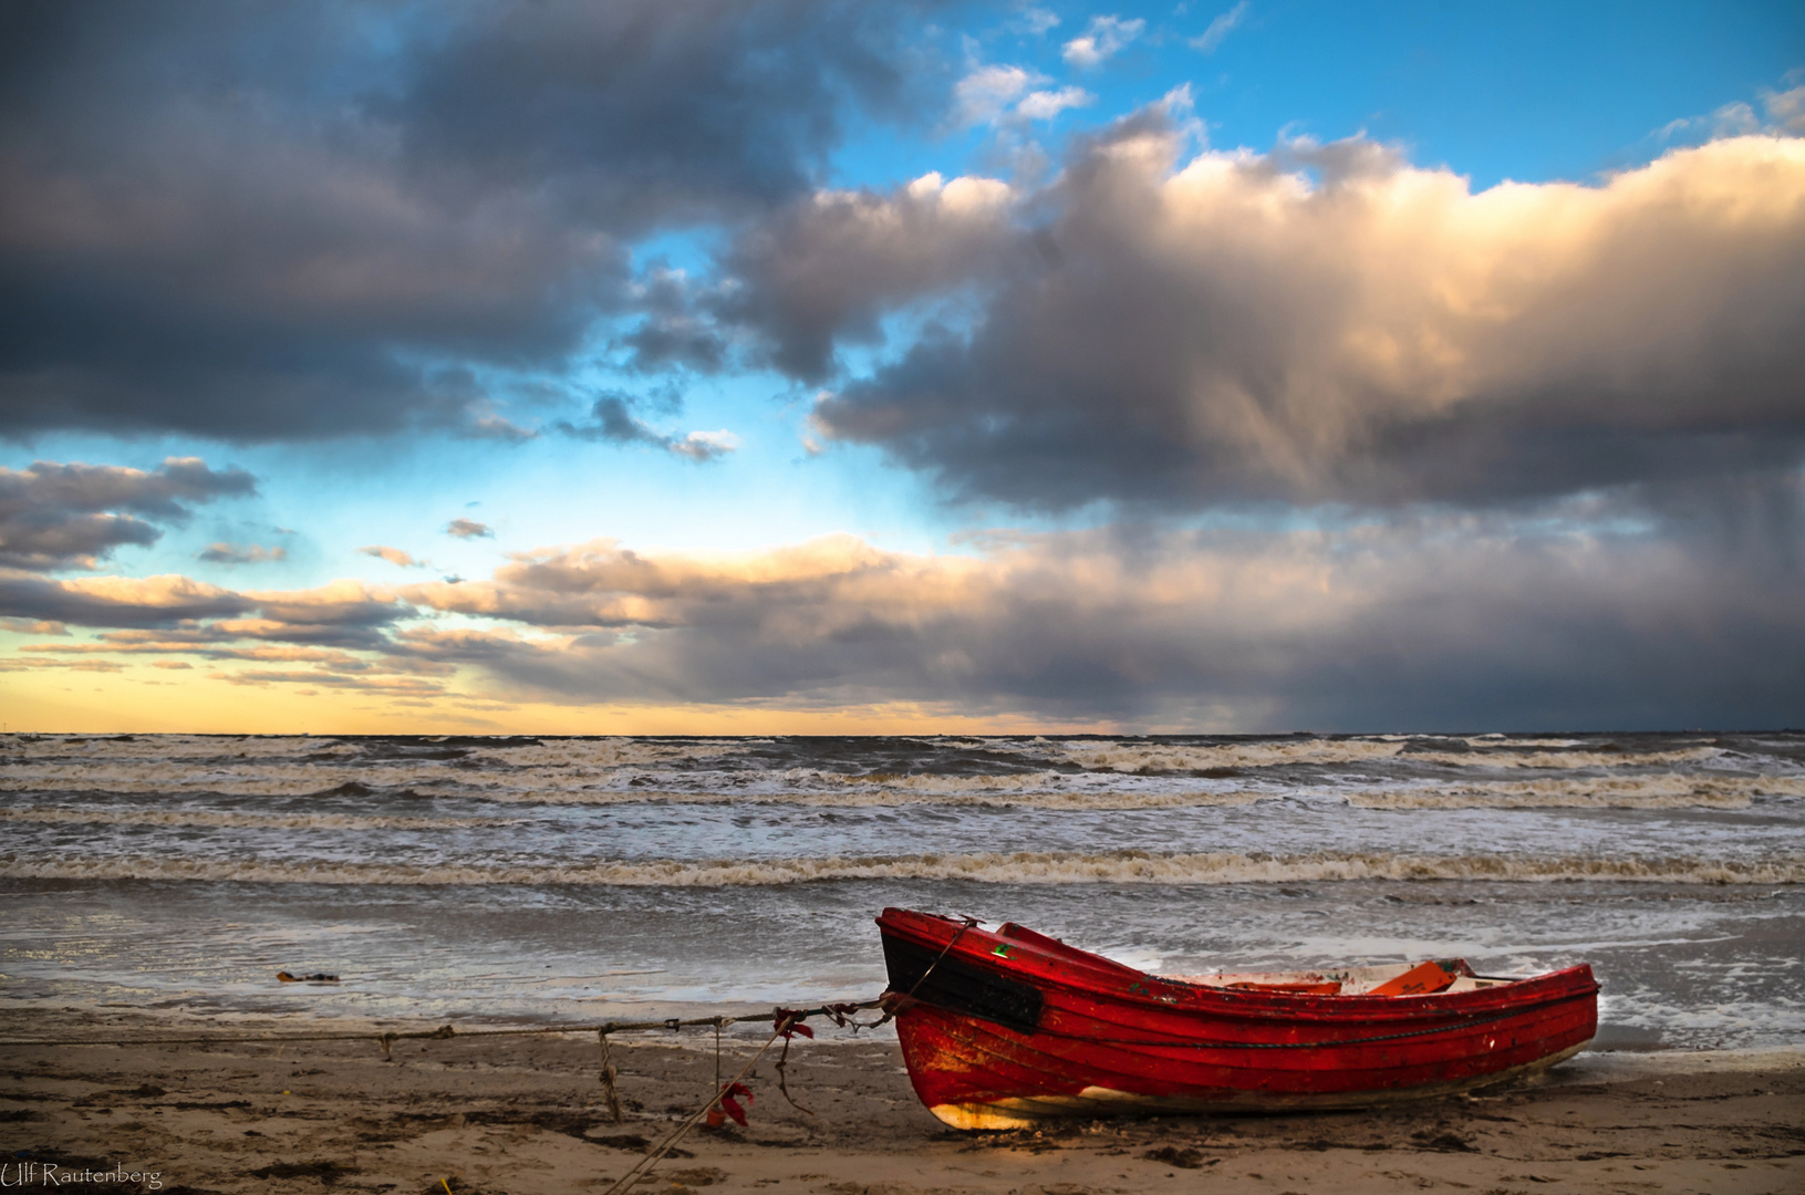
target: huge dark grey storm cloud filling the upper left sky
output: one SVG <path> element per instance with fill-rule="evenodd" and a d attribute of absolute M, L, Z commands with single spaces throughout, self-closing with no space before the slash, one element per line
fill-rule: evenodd
<path fill-rule="evenodd" d="M 634 238 L 807 190 L 913 11 L 13 5 L 0 433 L 507 435 L 467 366 L 560 368 Z"/>

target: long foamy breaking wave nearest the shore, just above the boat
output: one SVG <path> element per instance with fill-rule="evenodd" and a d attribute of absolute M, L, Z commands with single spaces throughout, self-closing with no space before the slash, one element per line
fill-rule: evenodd
<path fill-rule="evenodd" d="M 1603 859 L 1594 856 L 1408 854 L 1153 854 L 1115 850 L 830 856 L 805 859 L 644 859 L 578 866 L 399 866 L 384 863 L 264 863 L 179 857 L 0 856 L 5 879 L 157 879 L 265 885 L 612 885 L 727 888 L 854 879 L 928 879 L 993 885 L 1254 885 L 1323 881 L 1478 879 L 1509 883 L 1606 881 L 1684 885 L 1805 883 L 1805 857 Z"/>

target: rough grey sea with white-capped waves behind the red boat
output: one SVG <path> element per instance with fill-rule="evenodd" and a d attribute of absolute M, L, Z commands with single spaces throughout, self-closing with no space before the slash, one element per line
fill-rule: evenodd
<path fill-rule="evenodd" d="M 904 906 L 1180 975 L 1590 962 L 1597 1049 L 1805 1038 L 1798 731 L 9 735 L 0 843 L 13 1007 L 801 1007 L 875 996 Z"/>

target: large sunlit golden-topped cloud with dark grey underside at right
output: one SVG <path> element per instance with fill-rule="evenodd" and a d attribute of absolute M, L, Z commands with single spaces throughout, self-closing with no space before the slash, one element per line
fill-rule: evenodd
<path fill-rule="evenodd" d="M 1137 114 L 993 220 L 917 224 L 895 265 L 912 197 L 792 213 L 742 303 L 809 379 L 845 329 L 980 287 L 812 424 L 1023 507 L 1484 505 L 1805 455 L 1805 141 L 1482 193 L 1365 139 L 1182 143 Z M 859 264 L 856 301 L 816 298 L 818 262 Z"/>

